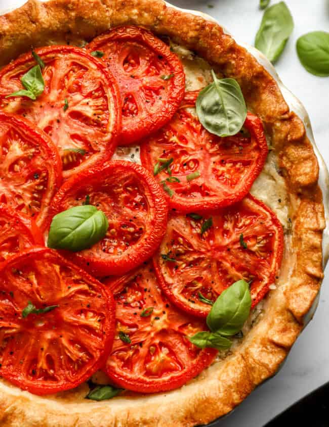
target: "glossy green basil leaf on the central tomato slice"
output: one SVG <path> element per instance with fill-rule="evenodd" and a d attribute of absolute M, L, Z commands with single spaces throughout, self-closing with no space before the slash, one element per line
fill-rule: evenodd
<path fill-rule="evenodd" d="M 76 252 L 102 240 L 108 221 L 95 206 L 75 206 L 54 216 L 50 225 L 48 247 Z"/>

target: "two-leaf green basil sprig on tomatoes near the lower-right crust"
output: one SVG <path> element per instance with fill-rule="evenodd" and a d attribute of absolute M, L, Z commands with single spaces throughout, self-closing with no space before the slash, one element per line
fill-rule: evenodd
<path fill-rule="evenodd" d="M 210 331 L 198 332 L 189 337 L 189 340 L 200 348 L 230 348 L 232 342 L 227 337 L 232 337 L 241 330 L 249 316 L 251 305 L 249 284 L 245 280 L 236 281 L 221 293 L 212 306 L 207 316 Z"/>

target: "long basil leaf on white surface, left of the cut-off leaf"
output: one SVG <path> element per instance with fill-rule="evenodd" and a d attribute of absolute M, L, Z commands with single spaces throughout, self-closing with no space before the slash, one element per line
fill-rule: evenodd
<path fill-rule="evenodd" d="M 294 21 L 286 4 L 277 3 L 264 12 L 255 46 L 274 63 L 281 55 L 293 29 Z"/>

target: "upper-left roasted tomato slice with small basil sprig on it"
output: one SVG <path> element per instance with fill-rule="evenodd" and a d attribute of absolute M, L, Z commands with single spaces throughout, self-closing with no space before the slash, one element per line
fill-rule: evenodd
<path fill-rule="evenodd" d="M 54 141 L 64 178 L 109 159 L 116 147 L 121 111 L 115 80 L 86 50 L 72 46 L 36 49 L 44 61 L 43 93 L 32 101 L 5 98 L 22 89 L 23 74 L 35 66 L 30 53 L 0 71 L 0 106 L 30 119 Z"/>

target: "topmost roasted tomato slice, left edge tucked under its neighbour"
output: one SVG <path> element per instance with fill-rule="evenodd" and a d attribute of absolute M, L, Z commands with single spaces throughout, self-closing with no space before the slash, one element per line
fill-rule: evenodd
<path fill-rule="evenodd" d="M 144 28 L 115 28 L 90 44 L 117 79 L 122 103 L 120 145 L 159 129 L 175 114 L 185 89 L 182 64 L 169 46 Z"/>

